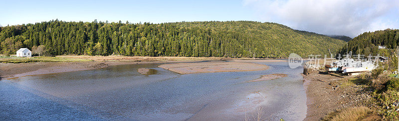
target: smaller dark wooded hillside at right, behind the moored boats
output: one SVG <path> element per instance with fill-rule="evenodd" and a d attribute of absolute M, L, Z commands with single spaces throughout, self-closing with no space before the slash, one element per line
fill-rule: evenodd
<path fill-rule="evenodd" d="M 365 32 L 348 42 L 348 51 L 353 54 L 377 55 L 381 54 L 378 46 L 387 46 L 388 49 L 394 49 L 399 45 L 399 30 L 386 29 L 375 32 Z M 340 49 L 340 54 L 347 52 L 346 45 Z M 383 55 L 382 55 L 383 56 Z"/>

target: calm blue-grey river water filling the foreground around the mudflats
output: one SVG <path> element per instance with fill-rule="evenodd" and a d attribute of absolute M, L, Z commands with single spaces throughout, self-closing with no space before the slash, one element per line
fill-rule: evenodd
<path fill-rule="evenodd" d="M 3 80 L 0 120 L 230 121 L 259 109 L 265 120 L 303 120 L 302 68 L 260 64 L 270 69 L 179 74 L 159 64 L 131 64 Z M 157 73 L 138 73 L 143 67 Z M 245 82 L 271 73 L 288 77 Z"/>

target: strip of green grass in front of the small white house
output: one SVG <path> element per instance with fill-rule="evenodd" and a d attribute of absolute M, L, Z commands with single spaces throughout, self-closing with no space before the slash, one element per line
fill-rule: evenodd
<path fill-rule="evenodd" d="M 1 57 L 0 58 L 0 62 L 2 63 L 57 62 L 57 61 L 91 61 L 91 60 L 64 58 L 64 57 L 31 57 L 31 58 Z"/>

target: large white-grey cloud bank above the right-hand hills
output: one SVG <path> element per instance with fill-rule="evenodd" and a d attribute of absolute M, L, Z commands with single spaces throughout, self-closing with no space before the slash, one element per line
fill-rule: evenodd
<path fill-rule="evenodd" d="M 398 28 L 398 0 L 243 0 L 264 21 L 320 34 L 355 37 Z"/>

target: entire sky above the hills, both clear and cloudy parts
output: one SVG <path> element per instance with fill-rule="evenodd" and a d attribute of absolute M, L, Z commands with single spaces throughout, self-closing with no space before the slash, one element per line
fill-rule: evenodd
<path fill-rule="evenodd" d="M 1 26 L 55 19 L 131 23 L 247 20 L 349 37 L 399 29 L 399 0 L 0 0 L 0 4 Z"/>

